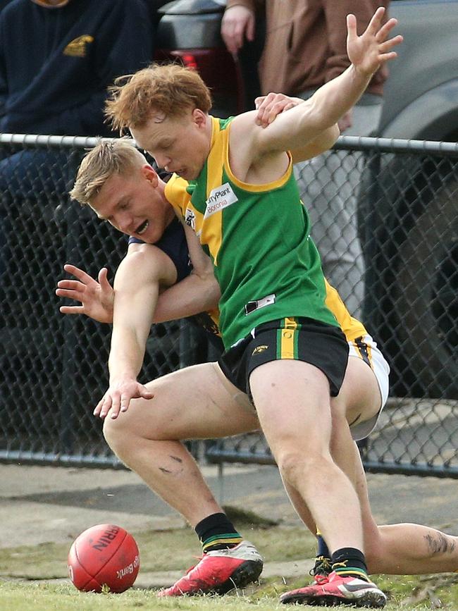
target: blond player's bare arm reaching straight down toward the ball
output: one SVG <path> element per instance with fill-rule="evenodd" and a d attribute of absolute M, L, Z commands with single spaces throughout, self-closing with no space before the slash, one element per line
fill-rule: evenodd
<path fill-rule="evenodd" d="M 154 249 L 154 257 L 148 249 Z M 128 409 L 130 400 L 151 398 L 137 382 L 153 313 L 161 287 L 176 281 L 171 259 L 154 245 L 129 253 L 118 268 L 114 285 L 113 331 L 109 355 L 109 389 L 94 409 L 94 415 L 111 418 Z"/>

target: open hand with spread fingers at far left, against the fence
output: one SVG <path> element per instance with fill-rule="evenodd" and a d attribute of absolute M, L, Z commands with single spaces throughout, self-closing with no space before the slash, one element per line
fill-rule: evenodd
<path fill-rule="evenodd" d="M 85 314 L 100 323 L 112 323 L 114 292 L 107 278 L 106 267 L 99 271 L 98 281 L 74 265 L 66 264 L 63 269 L 78 279 L 59 280 L 56 295 L 79 301 L 81 305 L 61 306 L 59 311 L 62 314 Z"/>

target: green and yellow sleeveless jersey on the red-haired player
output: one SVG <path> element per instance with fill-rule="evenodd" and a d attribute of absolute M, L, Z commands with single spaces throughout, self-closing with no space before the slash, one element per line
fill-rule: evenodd
<path fill-rule="evenodd" d="M 230 170 L 230 122 L 211 117 L 211 149 L 204 168 L 182 195 L 173 176 L 166 197 L 199 236 L 221 288 L 220 330 L 225 347 L 261 323 L 306 316 L 338 326 L 326 307 L 318 251 L 299 199 L 292 161 L 266 185 L 243 183 Z"/>

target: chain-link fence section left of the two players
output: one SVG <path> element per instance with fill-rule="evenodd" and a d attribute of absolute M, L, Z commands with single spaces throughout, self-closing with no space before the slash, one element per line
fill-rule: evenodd
<path fill-rule="evenodd" d="M 116 466 L 92 416 L 108 387 L 110 326 L 63 316 L 55 295 L 63 264 L 94 277 L 107 266 L 113 280 L 128 247 L 125 235 L 67 195 L 96 140 L 0 139 L 0 458 Z M 142 380 L 195 362 L 198 339 L 185 321 L 154 326 Z"/>

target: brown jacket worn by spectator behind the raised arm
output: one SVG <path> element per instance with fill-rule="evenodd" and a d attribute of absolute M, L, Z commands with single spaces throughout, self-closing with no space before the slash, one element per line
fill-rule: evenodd
<path fill-rule="evenodd" d="M 254 10 L 259 0 L 228 0 Z M 347 13 L 364 32 L 378 6 L 389 0 L 264 0 L 266 42 L 259 63 L 262 93 L 297 95 L 320 87 L 349 66 Z M 381 95 L 387 76 L 382 68 L 367 91 Z"/>

